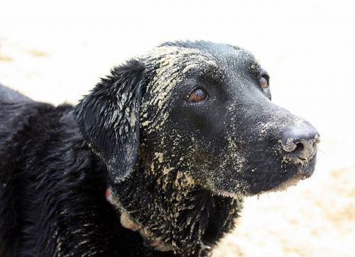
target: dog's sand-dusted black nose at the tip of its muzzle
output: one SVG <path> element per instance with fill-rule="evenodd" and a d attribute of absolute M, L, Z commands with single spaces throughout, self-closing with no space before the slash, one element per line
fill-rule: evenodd
<path fill-rule="evenodd" d="M 293 125 L 283 130 L 280 142 L 285 159 L 304 163 L 310 161 L 317 153 L 320 134 L 315 127 L 305 122 L 302 126 Z"/>

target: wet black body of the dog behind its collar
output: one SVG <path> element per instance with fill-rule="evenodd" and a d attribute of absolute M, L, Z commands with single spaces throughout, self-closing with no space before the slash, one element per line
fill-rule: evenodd
<path fill-rule="evenodd" d="M 13 94 L 2 87 L 5 93 Z M 171 256 L 121 227 L 72 106 L 0 102 L 0 256 Z"/>

